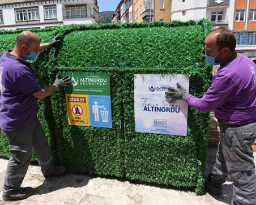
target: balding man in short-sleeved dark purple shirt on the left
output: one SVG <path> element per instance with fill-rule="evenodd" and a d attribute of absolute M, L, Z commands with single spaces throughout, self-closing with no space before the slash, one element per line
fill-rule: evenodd
<path fill-rule="evenodd" d="M 71 86 L 71 79 L 65 76 L 52 86 L 41 88 L 37 83 L 31 63 L 37 54 L 61 41 L 56 36 L 50 43 L 41 44 L 39 37 L 24 31 L 16 38 L 13 50 L 7 50 L 0 57 L 1 108 L 0 126 L 9 140 L 10 159 L 3 185 L 3 200 L 20 200 L 33 194 L 32 187 L 20 187 L 27 173 L 32 150 L 35 152 L 45 177 L 59 176 L 64 166 L 52 163 L 50 148 L 37 118 L 37 101 L 51 95 L 58 88 Z"/>

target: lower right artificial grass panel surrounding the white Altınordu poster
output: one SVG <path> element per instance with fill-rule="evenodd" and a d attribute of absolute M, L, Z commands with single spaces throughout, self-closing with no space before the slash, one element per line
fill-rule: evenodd
<path fill-rule="evenodd" d="M 200 57 L 200 56 L 199 56 Z M 177 187 L 196 187 L 203 192 L 206 169 L 208 113 L 189 107 L 187 136 L 136 133 L 134 121 L 134 74 L 186 74 L 190 75 L 190 93 L 202 96 L 204 73 L 211 66 L 182 69 L 126 69 L 123 86 L 126 91 L 125 121 L 125 168 L 126 177 Z M 203 155 L 203 156 L 199 156 Z M 203 181 L 202 181 L 203 180 Z"/>

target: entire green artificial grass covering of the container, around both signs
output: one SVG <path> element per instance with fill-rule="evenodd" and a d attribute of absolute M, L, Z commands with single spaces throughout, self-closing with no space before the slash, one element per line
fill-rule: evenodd
<path fill-rule="evenodd" d="M 41 122 L 55 161 L 76 172 L 197 187 L 202 193 L 208 114 L 189 108 L 186 137 L 135 133 L 133 75 L 187 74 L 190 93 L 201 97 L 210 85 L 203 46 L 210 29 L 208 20 L 48 29 L 49 39 L 64 31 L 66 36 L 59 49 L 36 59 L 39 82 L 48 86 L 63 71 L 108 72 L 112 98 L 112 129 L 68 125 L 63 91 L 41 102 Z M 128 66 L 118 67 L 121 62 Z M 0 155 L 6 156 L 7 144 L 0 139 Z"/>

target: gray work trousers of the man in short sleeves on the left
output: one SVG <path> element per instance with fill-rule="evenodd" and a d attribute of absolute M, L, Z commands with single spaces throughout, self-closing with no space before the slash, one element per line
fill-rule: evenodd
<path fill-rule="evenodd" d="M 3 131 L 9 139 L 10 159 L 3 185 L 3 194 L 20 189 L 31 160 L 32 150 L 35 152 L 43 174 L 54 169 L 50 147 L 39 120 L 21 131 Z"/>

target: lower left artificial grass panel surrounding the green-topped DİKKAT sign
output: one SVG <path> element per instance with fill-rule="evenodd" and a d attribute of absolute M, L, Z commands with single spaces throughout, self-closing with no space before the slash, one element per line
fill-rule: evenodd
<path fill-rule="evenodd" d="M 79 63 L 79 62 L 78 62 Z M 74 65 L 75 67 L 76 65 Z M 115 95 L 121 92 L 122 76 L 117 70 L 105 69 L 65 69 L 62 71 L 107 72 L 110 76 L 112 129 L 102 127 L 71 126 L 67 121 L 65 93 L 58 91 L 52 95 L 54 127 L 58 144 L 59 164 L 73 172 L 124 176 L 122 99 Z"/>

